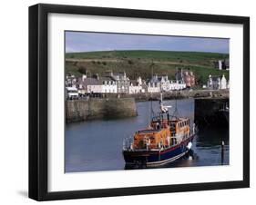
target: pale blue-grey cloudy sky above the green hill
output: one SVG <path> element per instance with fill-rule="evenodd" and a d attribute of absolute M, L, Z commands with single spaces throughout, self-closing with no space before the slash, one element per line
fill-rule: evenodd
<path fill-rule="evenodd" d="M 66 32 L 66 53 L 113 50 L 193 51 L 229 54 L 229 39 Z"/>

